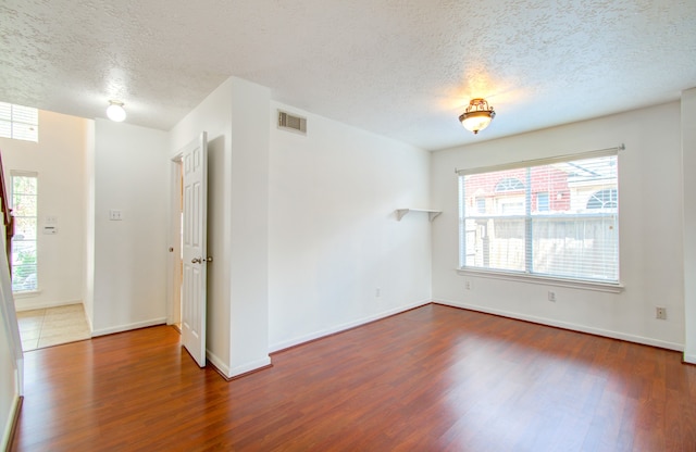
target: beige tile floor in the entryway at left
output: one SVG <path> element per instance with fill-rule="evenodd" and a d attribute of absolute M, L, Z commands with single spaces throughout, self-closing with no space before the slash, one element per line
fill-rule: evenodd
<path fill-rule="evenodd" d="M 90 337 L 82 304 L 20 311 L 17 323 L 25 352 Z"/>

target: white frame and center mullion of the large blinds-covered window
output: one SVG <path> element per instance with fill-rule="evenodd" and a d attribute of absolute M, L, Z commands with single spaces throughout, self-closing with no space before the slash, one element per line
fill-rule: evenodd
<path fill-rule="evenodd" d="M 621 280 L 620 280 L 620 268 L 621 268 L 620 262 L 617 264 L 617 271 L 619 273 L 617 275 L 616 281 L 614 280 L 604 281 L 604 280 L 585 279 L 585 278 L 574 278 L 574 277 L 568 278 L 562 276 L 540 275 L 530 271 L 531 255 L 529 250 L 531 244 L 529 242 L 530 240 L 529 224 L 531 224 L 531 221 L 532 221 L 532 217 L 530 215 L 530 206 L 531 206 L 530 197 L 532 196 L 532 187 L 529 187 L 527 189 L 525 189 L 525 197 L 527 201 L 526 212 L 523 215 L 518 215 L 520 216 L 520 218 L 525 218 L 525 223 L 527 224 L 527 226 L 525 226 L 525 235 L 524 235 L 524 240 L 525 240 L 524 248 L 526 250 L 525 251 L 526 255 L 524 258 L 525 269 L 523 272 L 520 272 L 520 271 L 494 269 L 494 268 L 487 268 L 482 266 L 467 266 L 465 261 L 467 261 L 468 237 L 467 237 L 467 228 L 464 225 L 465 218 L 467 218 L 467 212 L 465 212 L 467 205 L 465 205 L 465 200 L 462 199 L 462 193 L 463 193 L 462 184 L 464 179 L 463 176 L 467 176 L 467 175 L 494 173 L 494 172 L 499 172 L 505 170 L 521 170 L 521 168 L 527 168 L 527 167 L 539 166 L 539 165 L 548 165 L 552 163 L 571 162 L 576 160 L 600 158 L 600 156 L 608 156 L 608 155 L 617 155 L 617 161 L 618 161 L 619 150 L 621 149 L 623 149 L 623 146 L 617 147 L 617 148 L 602 149 L 598 151 L 584 152 L 579 154 L 561 155 L 557 158 L 551 158 L 551 159 L 530 160 L 530 161 L 515 162 L 515 163 L 510 163 L 505 165 L 496 165 L 496 166 L 488 166 L 488 167 L 481 167 L 481 168 L 458 170 L 457 174 L 459 179 L 458 193 L 459 193 L 459 261 L 460 261 L 459 267 L 457 269 L 458 274 L 476 276 L 476 277 L 485 277 L 485 278 L 518 280 L 518 281 L 524 281 L 524 282 L 537 282 L 537 284 L 545 284 L 549 286 L 582 288 L 582 289 L 607 291 L 607 292 L 614 292 L 614 293 L 622 291 L 623 285 L 621 284 Z M 617 190 L 618 189 L 619 189 L 619 186 L 617 184 Z M 473 193 L 473 194 L 475 196 L 477 193 Z M 477 204 L 477 202 L 475 204 Z M 473 205 L 473 214 L 471 216 L 475 216 L 477 211 L 478 211 L 478 206 Z M 507 215 L 504 217 L 507 217 Z M 618 219 L 617 219 L 617 229 L 618 229 Z M 618 247 L 619 230 L 617 230 L 616 240 L 617 240 L 616 246 Z M 617 255 L 620 256 L 620 253 L 617 252 Z"/>

